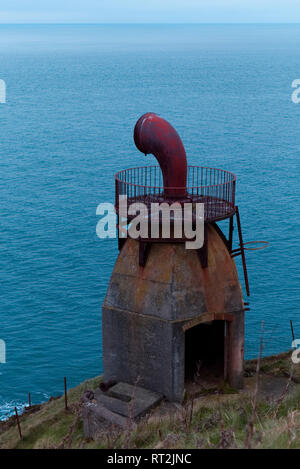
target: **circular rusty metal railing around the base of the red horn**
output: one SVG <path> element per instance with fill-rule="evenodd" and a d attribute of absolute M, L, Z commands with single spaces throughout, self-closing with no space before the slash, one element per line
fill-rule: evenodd
<path fill-rule="evenodd" d="M 206 222 L 231 217 L 235 211 L 236 176 L 223 169 L 188 166 L 186 196 L 180 199 L 164 195 L 159 166 L 124 169 L 115 175 L 115 182 L 116 209 L 119 196 L 126 196 L 128 204 L 142 202 L 149 209 L 151 203 L 204 203 Z"/>

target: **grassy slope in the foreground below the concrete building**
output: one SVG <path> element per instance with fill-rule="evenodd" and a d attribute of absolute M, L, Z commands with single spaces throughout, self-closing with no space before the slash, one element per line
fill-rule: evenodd
<path fill-rule="evenodd" d="M 288 382 L 290 363 L 290 354 L 264 359 L 262 380 L 284 376 Z M 259 399 L 253 413 L 255 366 L 246 363 L 249 377 L 242 393 L 202 396 L 171 412 L 155 410 L 136 429 L 130 422 L 126 431 L 103 428 L 97 441 L 87 441 L 79 401 L 84 390 L 98 386 L 101 378 L 94 378 L 69 391 L 69 411 L 60 398 L 21 416 L 22 440 L 14 420 L 0 424 L 0 448 L 300 448 L 300 384 L 291 385 L 282 403 L 278 396 Z M 300 365 L 294 376 L 300 382 Z"/>

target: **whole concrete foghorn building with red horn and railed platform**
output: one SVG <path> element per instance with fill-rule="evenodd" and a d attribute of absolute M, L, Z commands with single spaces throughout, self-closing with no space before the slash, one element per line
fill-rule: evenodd
<path fill-rule="evenodd" d="M 245 305 L 235 255 L 242 255 L 249 287 L 236 178 L 187 166 L 178 134 L 155 114 L 139 119 L 135 142 L 143 153 L 153 153 L 159 166 L 118 173 L 117 200 L 126 195 L 128 204 L 147 206 L 204 203 L 205 237 L 201 249 L 186 249 L 184 240 L 175 238 L 119 240 L 102 309 L 104 380 L 138 383 L 179 402 L 197 383 L 227 381 L 241 388 Z M 237 250 L 232 249 L 234 217 Z M 217 225 L 226 219 L 228 239 Z"/>

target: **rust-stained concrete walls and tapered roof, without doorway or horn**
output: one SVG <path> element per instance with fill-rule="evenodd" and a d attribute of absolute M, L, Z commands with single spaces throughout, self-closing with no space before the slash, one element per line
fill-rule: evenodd
<path fill-rule="evenodd" d="M 184 327 L 230 313 L 228 377 L 243 384 L 244 304 L 236 266 L 208 226 L 208 267 L 184 244 L 153 244 L 146 266 L 138 242 L 119 254 L 103 303 L 104 379 L 139 384 L 180 401 L 184 393 Z M 205 316 L 207 315 L 208 316 Z M 201 319 L 202 318 L 202 319 Z"/>

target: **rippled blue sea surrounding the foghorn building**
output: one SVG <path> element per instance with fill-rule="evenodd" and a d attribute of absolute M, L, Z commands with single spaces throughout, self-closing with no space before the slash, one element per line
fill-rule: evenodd
<path fill-rule="evenodd" d="M 189 164 L 237 175 L 251 311 L 246 356 L 300 338 L 300 25 L 1 25 L 0 418 L 101 373 L 101 304 L 118 251 L 96 235 L 114 174 L 152 111 Z M 238 243 L 235 233 L 235 244 Z M 243 285 L 241 260 L 237 264 Z"/>

